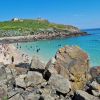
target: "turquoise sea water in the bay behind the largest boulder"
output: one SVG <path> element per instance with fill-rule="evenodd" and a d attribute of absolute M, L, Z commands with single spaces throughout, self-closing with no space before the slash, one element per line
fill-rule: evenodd
<path fill-rule="evenodd" d="M 38 55 L 44 62 L 48 62 L 59 48 L 65 45 L 78 45 L 88 53 L 91 66 L 98 66 L 100 65 L 100 29 L 85 31 L 91 35 L 19 43 L 18 49 L 26 52 L 30 56 Z M 21 48 L 19 48 L 20 46 Z M 40 50 L 37 52 L 37 49 Z"/>

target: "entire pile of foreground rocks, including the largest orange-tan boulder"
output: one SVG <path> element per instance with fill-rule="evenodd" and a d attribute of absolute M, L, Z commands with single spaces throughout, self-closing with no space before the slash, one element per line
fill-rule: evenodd
<path fill-rule="evenodd" d="M 79 47 L 61 48 L 46 67 L 37 63 L 0 63 L 0 100 L 100 100 L 100 84 L 88 81 L 88 56 Z"/>

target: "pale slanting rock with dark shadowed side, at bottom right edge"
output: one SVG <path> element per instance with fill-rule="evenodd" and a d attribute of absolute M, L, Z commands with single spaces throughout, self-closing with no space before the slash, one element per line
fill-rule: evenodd
<path fill-rule="evenodd" d="M 77 90 L 75 92 L 74 100 L 100 100 L 100 99 L 88 94 L 85 91 Z"/>

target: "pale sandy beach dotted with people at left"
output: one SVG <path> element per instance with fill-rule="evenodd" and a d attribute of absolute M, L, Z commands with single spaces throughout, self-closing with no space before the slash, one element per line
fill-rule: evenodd
<path fill-rule="evenodd" d="M 0 44 L 0 62 L 11 64 L 12 57 L 14 58 L 14 64 L 30 62 L 29 56 L 20 53 L 13 44 Z"/>

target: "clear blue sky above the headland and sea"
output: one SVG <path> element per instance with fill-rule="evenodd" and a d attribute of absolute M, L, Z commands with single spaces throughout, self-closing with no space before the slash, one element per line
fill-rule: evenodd
<path fill-rule="evenodd" d="M 100 28 L 100 0 L 0 0 L 0 21 L 14 17 Z"/>

